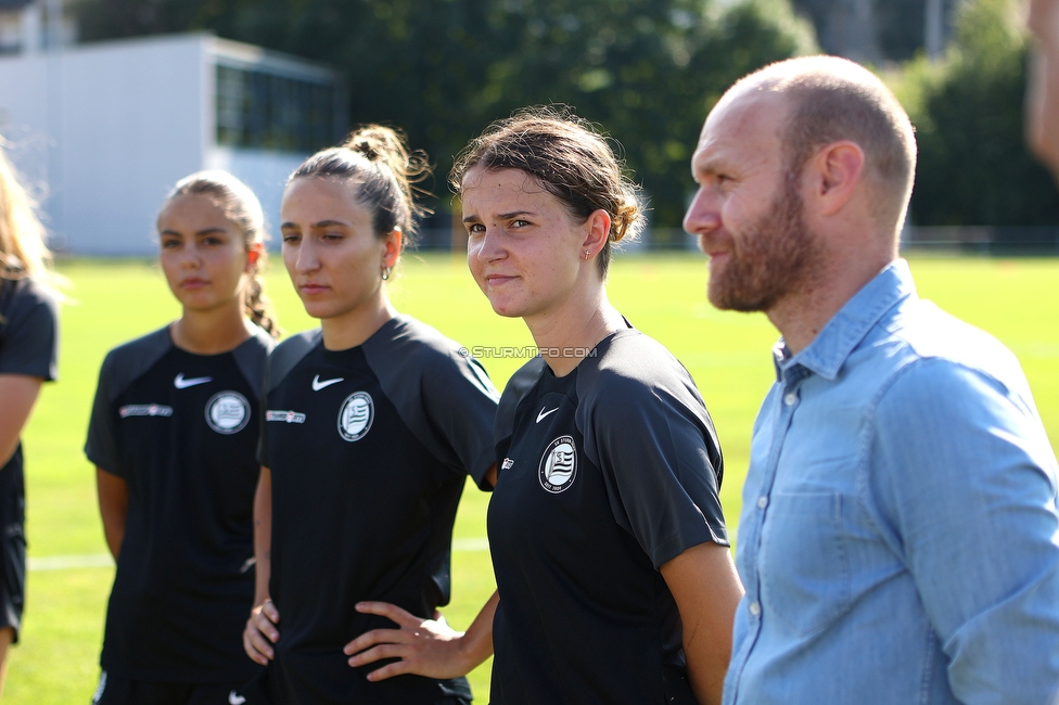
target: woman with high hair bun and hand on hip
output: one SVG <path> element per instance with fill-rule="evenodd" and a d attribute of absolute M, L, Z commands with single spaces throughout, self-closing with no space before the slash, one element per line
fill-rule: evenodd
<path fill-rule="evenodd" d="M 283 194 L 283 261 L 320 328 L 269 357 L 243 638 L 268 668 L 238 694 L 247 705 L 468 703 L 462 675 L 490 650 L 492 610 L 465 634 L 431 619 L 449 600 L 465 478 L 495 478 L 497 394 L 458 344 L 386 295 L 423 174 L 422 154 L 369 126 L 309 157 Z M 395 624 L 430 638 L 386 644 L 397 661 L 381 668 L 354 655 L 355 638 L 403 633 Z M 419 670 L 423 653 L 456 665 Z"/>

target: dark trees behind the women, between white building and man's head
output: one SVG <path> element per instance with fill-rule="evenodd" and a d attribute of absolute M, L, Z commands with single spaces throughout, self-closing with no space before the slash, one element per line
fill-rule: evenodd
<path fill-rule="evenodd" d="M 618 142 L 677 227 L 707 108 L 743 74 L 815 49 L 788 0 L 81 0 L 86 39 L 208 29 L 328 62 L 353 123 L 403 128 L 444 175 L 490 120 L 565 103 Z M 323 146 L 323 145 L 321 145 Z M 437 179 L 435 192 L 445 191 Z M 443 198 L 445 209 L 447 198 Z"/>

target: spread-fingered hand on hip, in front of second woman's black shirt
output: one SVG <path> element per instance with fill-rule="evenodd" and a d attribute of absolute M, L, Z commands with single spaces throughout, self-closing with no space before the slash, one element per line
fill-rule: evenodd
<path fill-rule="evenodd" d="M 465 653 L 464 632 L 454 630 L 436 612 L 434 619 L 423 619 L 388 602 L 360 602 L 357 612 L 386 617 L 399 627 L 372 629 L 343 649 L 347 656 L 352 656 L 350 666 L 363 666 L 381 658 L 400 659 L 371 671 L 368 680 L 384 680 L 401 674 L 456 678 L 480 663 L 472 663 L 473 658 Z"/>

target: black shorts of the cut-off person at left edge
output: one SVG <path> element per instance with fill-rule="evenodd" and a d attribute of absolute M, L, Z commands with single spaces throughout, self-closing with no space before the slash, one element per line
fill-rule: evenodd
<path fill-rule="evenodd" d="M 21 454 L 20 447 L 15 453 Z M 14 460 L 14 459 L 13 459 Z M 26 600 L 26 492 L 22 463 L 0 471 L 0 629 L 15 630 L 18 641 Z"/>

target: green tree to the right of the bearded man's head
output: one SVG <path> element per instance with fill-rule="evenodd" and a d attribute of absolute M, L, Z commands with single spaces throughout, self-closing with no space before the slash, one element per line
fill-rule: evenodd
<path fill-rule="evenodd" d="M 915 223 L 1059 225 L 1055 183 L 1023 141 L 1026 52 L 1011 0 L 969 0 L 945 63 L 905 68 L 920 91 L 905 100 L 919 143 Z"/>

